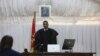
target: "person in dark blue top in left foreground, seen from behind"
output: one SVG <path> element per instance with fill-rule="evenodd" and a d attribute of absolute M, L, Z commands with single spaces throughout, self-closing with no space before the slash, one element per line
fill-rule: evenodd
<path fill-rule="evenodd" d="M 0 42 L 0 56 L 22 56 L 21 53 L 12 49 L 12 36 L 5 35 Z"/>

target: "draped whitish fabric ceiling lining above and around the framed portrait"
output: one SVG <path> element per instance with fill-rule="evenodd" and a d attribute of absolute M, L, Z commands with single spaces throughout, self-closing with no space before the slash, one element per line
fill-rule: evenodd
<path fill-rule="evenodd" d="M 100 16 L 97 0 L 0 0 L 0 17 L 33 16 L 44 4 L 51 5 L 52 16 Z"/>

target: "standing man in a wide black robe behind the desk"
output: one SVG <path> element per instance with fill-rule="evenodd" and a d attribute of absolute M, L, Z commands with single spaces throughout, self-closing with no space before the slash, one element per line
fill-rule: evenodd
<path fill-rule="evenodd" d="M 43 21 L 42 29 L 38 30 L 35 37 L 35 50 L 39 52 L 47 52 L 48 44 L 57 44 L 56 36 L 58 33 L 48 28 L 48 21 Z"/>

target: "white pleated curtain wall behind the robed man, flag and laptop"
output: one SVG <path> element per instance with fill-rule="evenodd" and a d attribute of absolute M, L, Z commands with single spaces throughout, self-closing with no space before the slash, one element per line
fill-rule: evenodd
<path fill-rule="evenodd" d="M 25 18 L 25 19 L 23 19 Z M 0 39 L 8 34 L 14 38 L 13 49 L 23 52 L 30 50 L 32 17 L 19 17 L 17 20 L 2 20 L 0 23 Z M 10 22 L 9 22 L 10 21 Z M 96 52 L 100 56 L 100 24 L 61 24 L 49 21 L 50 27 L 57 30 L 58 43 L 61 48 L 65 38 L 75 38 L 74 52 Z M 42 21 L 37 21 L 36 30 L 42 28 Z M 63 51 L 63 50 L 61 50 Z"/>

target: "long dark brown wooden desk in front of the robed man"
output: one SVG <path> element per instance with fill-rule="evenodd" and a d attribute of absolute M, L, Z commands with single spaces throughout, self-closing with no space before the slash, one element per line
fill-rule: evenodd
<path fill-rule="evenodd" d="M 30 53 L 29 56 L 93 56 L 96 53 L 82 53 L 82 52 L 40 52 L 40 53 Z"/>

